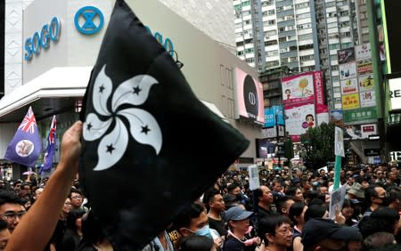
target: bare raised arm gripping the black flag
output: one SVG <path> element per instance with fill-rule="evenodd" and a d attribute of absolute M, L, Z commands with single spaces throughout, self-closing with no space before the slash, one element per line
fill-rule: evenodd
<path fill-rule="evenodd" d="M 82 122 L 78 121 L 62 136 L 60 163 L 40 198 L 12 232 L 5 250 L 44 250 L 78 172 L 81 134 Z"/>

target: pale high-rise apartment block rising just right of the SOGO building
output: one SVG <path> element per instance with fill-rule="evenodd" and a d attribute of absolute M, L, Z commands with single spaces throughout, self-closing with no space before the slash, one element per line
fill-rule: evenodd
<path fill-rule="evenodd" d="M 250 66 L 318 69 L 313 1 L 235 0 L 233 6 L 237 55 Z"/>

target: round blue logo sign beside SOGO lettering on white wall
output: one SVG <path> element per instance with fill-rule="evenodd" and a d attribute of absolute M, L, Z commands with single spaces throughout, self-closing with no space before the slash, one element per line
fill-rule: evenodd
<path fill-rule="evenodd" d="M 104 17 L 98 8 L 85 6 L 78 10 L 74 18 L 75 28 L 84 35 L 92 35 L 99 32 L 104 25 Z"/>

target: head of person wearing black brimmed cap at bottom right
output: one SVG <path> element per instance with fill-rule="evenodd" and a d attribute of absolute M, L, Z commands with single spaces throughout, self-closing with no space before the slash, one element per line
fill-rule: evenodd
<path fill-rule="evenodd" d="M 340 250 L 346 248 L 348 242 L 356 242 L 361 246 L 362 238 L 357 228 L 316 218 L 305 223 L 301 242 L 305 251 Z"/>

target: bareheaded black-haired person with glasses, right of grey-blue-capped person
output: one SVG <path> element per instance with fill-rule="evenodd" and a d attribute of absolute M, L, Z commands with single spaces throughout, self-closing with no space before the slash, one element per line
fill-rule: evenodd
<path fill-rule="evenodd" d="M 268 215 L 258 224 L 264 247 L 260 251 L 286 251 L 292 245 L 291 220 L 284 215 Z"/>

